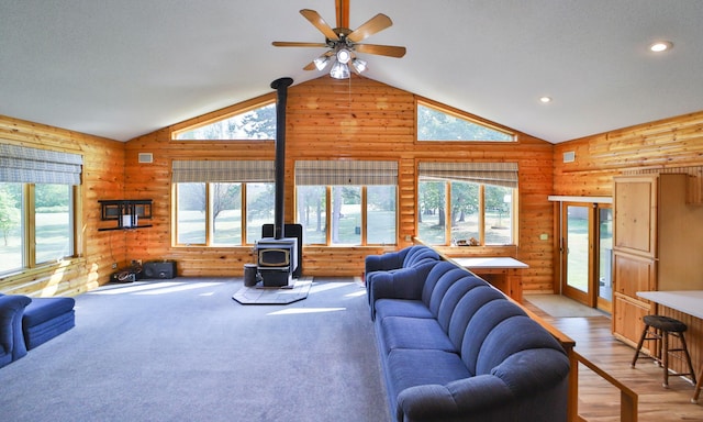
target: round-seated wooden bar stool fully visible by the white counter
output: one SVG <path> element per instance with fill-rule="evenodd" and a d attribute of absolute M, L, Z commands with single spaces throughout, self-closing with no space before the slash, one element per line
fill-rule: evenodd
<path fill-rule="evenodd" d="M 650 354 L 649 357 L 663 367 L 663 388 L 669 388 L 669 354 L 674 352 L 683 352 L 683 357 L 689 365 L 689 371 L 671 373 L 671 375 L 676 377 L 690 375 L 693 382 L 695 382 L 695 373 L 693 371 L 691 355 L 689 355 L 689 348 L 687 347 L 685 338 L 683 337 L 683 332 L 687 331 L 688 326 L 679 320 L 663 315 L 645 315 L 643 321 L 645 322 L 645 330 L 643 330 L 639 343 L 637 343 L 637 351 L 635 352 L 635 357 L 633 358 L 633 364 L 631 366 L 633 368 L 635 367 L 635 363 L 637 363 L 639 351 L 641 349 L 641 345 L 645 343 L 645 340 L 656 340 L 658 341 L 658 353 L 656 355 Z M 669 335 L 679 337 L 681 341 L 680 348 L 669 348 Z M 674 357 L 682 359 L 681 356 L 674 355 Z"/>

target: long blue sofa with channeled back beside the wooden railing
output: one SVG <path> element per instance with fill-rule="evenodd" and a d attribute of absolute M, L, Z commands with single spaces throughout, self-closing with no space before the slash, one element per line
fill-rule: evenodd
<path fill-rule="evenodd" d="M 368 287 L 394 421 L 567 420 L 567 354 L 488 282 L 443 260 Z"/>

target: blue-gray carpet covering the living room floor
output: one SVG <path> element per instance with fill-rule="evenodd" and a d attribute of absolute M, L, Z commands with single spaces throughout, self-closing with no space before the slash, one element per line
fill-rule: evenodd
<path fill-rule="evenodd" d="M 386 421 L 365 290 L 245 307 L 241 279 L 110 285 L 76 327 L 0 368 L 3 421 Z"/>

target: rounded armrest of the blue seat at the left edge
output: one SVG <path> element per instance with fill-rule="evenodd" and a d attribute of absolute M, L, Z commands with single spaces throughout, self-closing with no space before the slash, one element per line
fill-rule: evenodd
<path fill-rule="evenodd" d="M 26 296 L 0 296 L 0 346 L 5 354 L 12 355 L 12 360 L 26 355 L 24 335 L 22 333 L 22 316 L 24 308 L 32 302 Z"/>

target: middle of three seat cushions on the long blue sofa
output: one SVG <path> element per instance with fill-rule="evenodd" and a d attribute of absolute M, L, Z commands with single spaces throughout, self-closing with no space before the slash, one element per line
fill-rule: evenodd
<path fill-rule="evenodd" d="M 456 352 L 454 344 L 439 326 L 428 318 L 387 316 L 381 320 L 381 336 L 386 353 L 395 348 L 431 348 Z"/>

